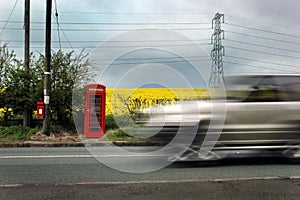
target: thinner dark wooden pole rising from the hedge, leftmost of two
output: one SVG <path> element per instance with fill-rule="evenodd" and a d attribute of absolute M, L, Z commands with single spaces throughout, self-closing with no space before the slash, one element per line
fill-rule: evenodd
<path fill-rule="evenodd" d="M 25 13 L 24 13 L 24 30 L 25 30 L 25 49 L 24 49 L 24 70 L 25 70 L 25 91 L 26 96 L 29 95 L 29 63 L 30 63 L 30 0 L 25 0 Z M 23 110 L 23 125 L 30 126 L 32 120 L 31 109 L 28 105 L 24 106 Z"/>

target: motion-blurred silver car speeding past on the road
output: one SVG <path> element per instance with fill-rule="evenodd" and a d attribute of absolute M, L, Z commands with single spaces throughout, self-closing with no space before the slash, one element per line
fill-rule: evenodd
<path fill-rule="evenodd" d="M 157 106 L 148 110 L 148 118 L 140 122 L 158 130 L 154 137 L 166 143 L 180 127 L 197 127 L 190 147 L 174 160 L 299 156 L 300 75 L 227 76 L 225 88 L 226 101 Z M 213 112 L 219 108 L 224 113 Z M 213 148 L 206 150 L 209 145 Z"/>

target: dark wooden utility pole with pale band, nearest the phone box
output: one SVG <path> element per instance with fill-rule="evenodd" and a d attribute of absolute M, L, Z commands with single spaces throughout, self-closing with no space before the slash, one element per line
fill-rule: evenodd
<path fill-rule="evenodd" d="M 47 0 L 46 7 L 46 41 L 45 41 L 45 70 L 44 70 L 44 104 L 45 116 L 43 132 L 50 135 L 50 93 L 51 93 L 51 11 L 52 0 Z"/>

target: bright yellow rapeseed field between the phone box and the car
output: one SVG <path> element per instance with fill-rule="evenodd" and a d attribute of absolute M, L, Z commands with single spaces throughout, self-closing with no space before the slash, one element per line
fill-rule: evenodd
<path fill-rule="evenodd" d="M 132 114 L 156 104 L 171 104 L 180 100 L 207 99 L 204 88 L 134 88 L 106 89 L 106 115 Z"/>

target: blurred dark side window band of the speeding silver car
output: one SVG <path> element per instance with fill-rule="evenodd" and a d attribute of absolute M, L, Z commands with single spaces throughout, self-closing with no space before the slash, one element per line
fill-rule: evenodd
<path fill-rule="evenodd" d="M 299 76 L 233 76 L 229 77 L 225 83 L 227 100 L 230 101 L 300 101 Z"/>

